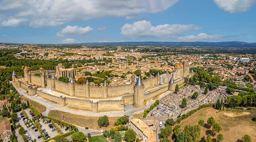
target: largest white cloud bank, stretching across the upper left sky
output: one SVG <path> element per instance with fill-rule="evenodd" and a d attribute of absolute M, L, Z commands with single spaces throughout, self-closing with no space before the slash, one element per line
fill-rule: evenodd
<path fill-rule="evenodd" d="M 0 0 L 0 26 L 47 27 L 107 16 L 139 16 L 167 10 L 178 0 Z M 24 19 L 25 22 L 12 20 Z M 14 23 L 13 23 L 14 22 Z"/>

